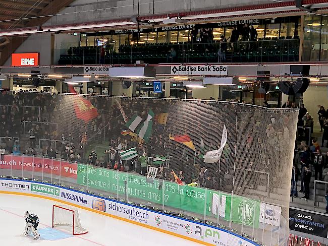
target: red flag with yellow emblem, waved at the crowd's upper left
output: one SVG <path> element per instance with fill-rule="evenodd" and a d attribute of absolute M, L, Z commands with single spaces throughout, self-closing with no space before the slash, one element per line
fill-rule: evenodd
<path fill-rule="evenodd" d="M 71 85 L 69 85 L 69 91 L 70 93 L 77 94 Z M 92 103 L 78 95 L 74 96 L 73 107 L 76 117 L 83 119 L 85 122 L 88 122 L 98 116 L 97 109 L 92 105 Z"/>

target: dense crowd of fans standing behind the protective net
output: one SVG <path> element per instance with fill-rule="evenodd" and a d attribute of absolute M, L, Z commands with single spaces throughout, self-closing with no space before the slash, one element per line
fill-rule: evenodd
<path fill-rule="evenodd" d="M 98 115 L 86 122 L 76 117 L 74 97 L 2 92 L 0 136 L 6 137 L 3 146 L 7 152 L 63 158 L 142 175 L 146 175 L 148 164 L 151 164 L 147 163 L 148 157 L 162 155 L 170 159 L 169 168 L 167 164 L 159 167 L 158 173 L 162 178 L 175 181 L 174 170 L 186 184 L 227 192 L 232 189 L 234 172 L 239 177 L 234 183 L 243 190 L 241 193 L 245 193 L 245 189 L 256 190 L 258 186 L 266 186 L 268 173 L 272 185 L 286 180 L 284 175 L 287 174 L 279 171 L 279 165 L 274 165 L 273 157 L 283 160 L 288 156 L 284 146 L 292 139 L 289 121 L 294 114 L 282 114 L 279 110 L 263 113 L 262 109 L 252 106 L 246 106 L 248 111 L 245 111 L 245 106 L 215 101 L 122 98 L 120 103 L 128 118 L 137 114 L 146 119 L 150 108 L 155 115 L 169 113 L 166 125 L 153 120 L 153 134 L 149 142 L 139 142 L 130 135 L 121 134 L 128 128 L 115 98 L 87 97 Z M 188 105 L 190 103 L 192 105 Z M 240 123 L 237 126 L 236 112 Z M 34 123 L 25 124 L 28 129 L 24 129 L 24 120 Z M 53 127 L 54 123 L 58 128 Z M 224 125 L 228 137 L 220 163 L 204 163 L 207 151 L 220 148 Z M 192 139 L 195 150 L 169 138 L 170 135 L 184 134 Z M 200 140 L 203 140 L 203 147 Z M 96 153 L 97 144 L 107 148 Z M 139 158 L 121 160 L 120 152 L 133 147 L 136 147 Z"/>

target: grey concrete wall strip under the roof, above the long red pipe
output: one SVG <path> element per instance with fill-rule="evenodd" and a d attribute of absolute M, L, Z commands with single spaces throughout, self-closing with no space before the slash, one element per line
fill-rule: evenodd
<path fill-rule="evenodd" d="M 154 13 L 172 13 L 200 9 L 218 9 L 234 6 L 272 3 L 268 0 L 155 0 Z M 138 14 L 138 0 L 77 0 L 51 18 L 46 25 L 131 17 Z M 140 0 L 140 15 L 153 13 L 153 1 Z"/>

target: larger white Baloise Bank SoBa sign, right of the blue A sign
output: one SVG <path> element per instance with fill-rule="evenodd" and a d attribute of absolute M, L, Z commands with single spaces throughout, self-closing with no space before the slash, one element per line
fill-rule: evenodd
<path fill-rule="evenodd" d="M 172 75 L 227 75 L 228 66 L 171 66 Z"/>

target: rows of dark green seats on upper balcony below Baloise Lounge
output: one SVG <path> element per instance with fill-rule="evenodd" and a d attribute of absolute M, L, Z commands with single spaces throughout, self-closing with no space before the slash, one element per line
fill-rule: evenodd
<path fill-rule="evenodd" d="M 130 64 L 136 60 L 146 63 L 204 63 L 204 62 L 265 62 L 298 61 L 299 39 L 274 39 L 256 41 L 208 43 L 172 42 L 134 45 L 109 45 L 103 61 L 100 46 L 80 46 L 54 50 L 54 64 Z M 175 49 L 172 57 L 171 48 Z M 221 52 L 223 51 L 223 52 Z"/>

